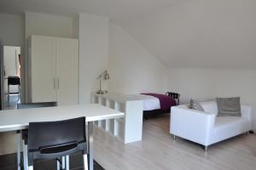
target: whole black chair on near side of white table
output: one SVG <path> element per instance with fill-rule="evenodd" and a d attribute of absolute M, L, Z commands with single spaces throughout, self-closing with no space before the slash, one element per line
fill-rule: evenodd
<path fill-rule="evenodd" d="M 30 122 L 28 127 L 28 167 L 36 159 L 57 159 L 82 152 L 84 169 L 88 169 L 85 117 L 58 122 Z"/>

